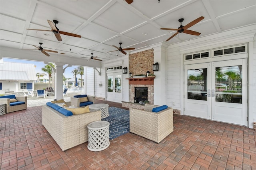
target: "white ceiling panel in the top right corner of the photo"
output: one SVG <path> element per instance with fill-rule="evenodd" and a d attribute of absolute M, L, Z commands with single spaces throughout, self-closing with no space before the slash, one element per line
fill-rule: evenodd
<path fill-rule="evenodd" d="M 256 0 L 210 0 L 216 17 L 256 5 Z M 254 7 L 255 10 L 255 7 Z"/>

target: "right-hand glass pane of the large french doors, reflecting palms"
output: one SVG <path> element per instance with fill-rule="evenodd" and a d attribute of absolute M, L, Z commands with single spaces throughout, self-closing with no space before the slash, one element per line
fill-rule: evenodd
<path fill-rule="evenodd" d="M 216 67 L 216 101 L 242 103 L 242 65 Z"/>

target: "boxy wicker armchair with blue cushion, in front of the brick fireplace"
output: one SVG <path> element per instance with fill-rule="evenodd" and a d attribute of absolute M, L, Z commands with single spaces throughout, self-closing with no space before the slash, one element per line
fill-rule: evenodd
<path fill-rule="evenodd" d="M 161 142 L 173 132 L 173 109 L 168 107 L 157 113 L 152 109 L 157 105 L 145 104 L 144 110 L 130 108 L 130 132 Z"/>

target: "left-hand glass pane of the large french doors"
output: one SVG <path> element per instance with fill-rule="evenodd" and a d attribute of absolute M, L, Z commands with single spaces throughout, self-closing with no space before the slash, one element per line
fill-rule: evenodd
<path fill-rule="evenodd" d="M 188 70 L 188 99 L 207 101 L 207 68 Z"/>

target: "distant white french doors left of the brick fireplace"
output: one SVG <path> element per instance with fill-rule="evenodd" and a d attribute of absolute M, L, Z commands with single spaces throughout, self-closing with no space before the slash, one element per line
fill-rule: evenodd
<path fill-rule="evenodd" d="M 107 101 L 122 102 L 121 73 L 107 73 Z"/>

